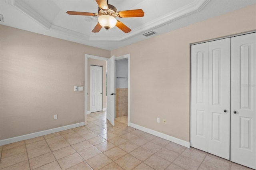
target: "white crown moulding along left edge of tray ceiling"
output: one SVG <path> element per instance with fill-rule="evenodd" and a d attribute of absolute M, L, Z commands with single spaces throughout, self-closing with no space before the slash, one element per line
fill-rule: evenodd
<path fill-rule="evenodd" d="M 34 21 L 38 22 L 38 24 L 42 25 L 44 28 L 48 30 L 51 28 L 52 24 L 48 20 L 38 14 L 34 9 L 30 8 L 30 6 L 22 0 L 6 0 L 6 2 L 26 14 L 26 16 L 32 18 Z"/>

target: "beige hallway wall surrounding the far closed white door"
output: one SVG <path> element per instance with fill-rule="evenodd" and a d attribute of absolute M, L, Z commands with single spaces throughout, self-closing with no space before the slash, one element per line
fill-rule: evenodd
<path fill-rule="evenodd" d="M 108 58 L 110 57 L 107 56 Z M 106 61 L 88 58 L 88 98 L 87 110 L 90 111 L 90 65 L 102 66 L 102 108 L 106 109 Z"/>

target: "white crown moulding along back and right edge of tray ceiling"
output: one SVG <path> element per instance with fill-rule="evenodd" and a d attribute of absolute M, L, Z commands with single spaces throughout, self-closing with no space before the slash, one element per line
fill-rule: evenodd
<path fill-rule="evenodd" d="M 190 4 L 179 8 L 178 10 L 175 10 L 174 12 L 171 12 L 170 14 L 162 17 L 161 19 L 157 18 L 156 20 L 153 20 L 152 22 L 149 22 L 145 24 L 142 27 L 138 27 L 132 30 L 129 34 L 126 34 L 125 36 L 120 37 L 90 37 L 91 41 L 124 41 L 128 40 L 129 38 L 132 38 L 134 36 L 141 35 L 141 32 L 146 32 L 148 30 L 153 30 L 155 28 L 164 26 L 166 24 L 169 24 L 170 22 L 174 22 L 180 18 L 184 18 L 185 16 L 194 14 L 195 12 L 198 12 L 202 10 L 202 8 L 209 2 L 210 0 L 199 0 L 199 1 L 193 1 Z"/>

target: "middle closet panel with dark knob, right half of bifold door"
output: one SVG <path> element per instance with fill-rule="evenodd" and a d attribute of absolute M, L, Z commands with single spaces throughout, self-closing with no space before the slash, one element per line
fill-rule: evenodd
<path fill-rule="evenodd" d="M 230 158 L 230 38 L 209 42 L 208 152 Z"/>

